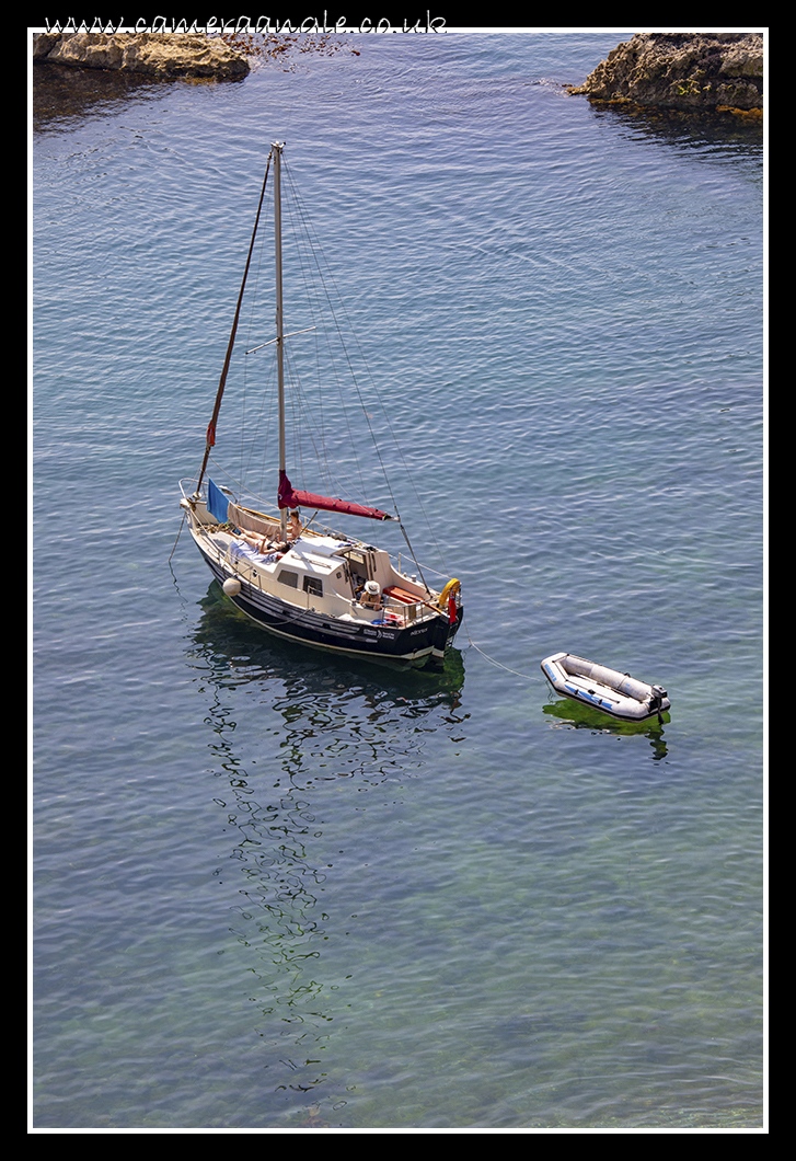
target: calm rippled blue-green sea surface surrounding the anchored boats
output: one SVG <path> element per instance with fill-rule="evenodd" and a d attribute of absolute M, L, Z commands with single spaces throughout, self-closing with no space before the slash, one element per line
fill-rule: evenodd
<path fill-rule="evenodd" d="M 37 74 L 35 1126 L 761 1125 L 762 139 L 569 96 L 622 38 Z M 462 580 L 441 675 L 169 560 L 276 139 Z"/>

